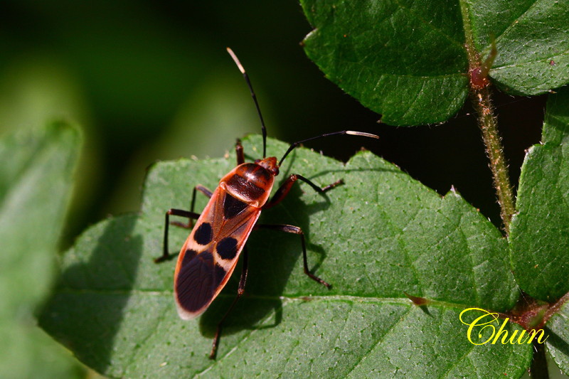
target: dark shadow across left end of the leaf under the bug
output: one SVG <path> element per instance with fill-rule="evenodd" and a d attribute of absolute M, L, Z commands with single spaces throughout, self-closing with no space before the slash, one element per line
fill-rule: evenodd
<path fill-rule="evenodd" d="M 142 255 L 142 237 L 132 235 L 136 220 L 128 215 L 107 222 L 90 259 L 64 269 L 39 318 L 44 330 L 100 373 L 110 367 Z M 87 254 L 70 253 L 78 260 Z"/>

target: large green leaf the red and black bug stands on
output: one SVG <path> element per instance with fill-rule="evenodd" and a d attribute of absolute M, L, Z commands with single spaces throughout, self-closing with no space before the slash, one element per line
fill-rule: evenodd
<path fill-rule="evenodd" d="M 276 156 L 288 146 L 269 144 Z M 258 157 L 261 139 L 244 146 Z M 469 306 L 514 306 L 519 292 L 499 231 L 457 193 L 441 198 L 369 152 L 344 165 L 307 149 L 289 156 L 282 177 L 298 172 L 322 185 L 346 184 L 327 196 L 294 186 L 260 222 L 302 227 L 310 267 L 333 287 L 303 274 L 297 236 L 255 231 L 245 297 L 223 328 L 217 361 L 209 360 L 238 275 L 205 314 L 183 321 L 174 262 L 152 259 L 161 254 L 164 211 L 187 209 L 193 186 L 215 188 L 233 165 L 231 158 L 152 167 L 142 213 L 93 226 L 65 254 L 43 328 L 112 377 L 510 377 L 526 370 L 531 345 L 474 346 L 459 321 Z M 198 208 L 206 200 L 199 197 Z M 171 250 L 187 234 L 171 228 Z M 415 306 L 403 292 L 432 303 Z"/>

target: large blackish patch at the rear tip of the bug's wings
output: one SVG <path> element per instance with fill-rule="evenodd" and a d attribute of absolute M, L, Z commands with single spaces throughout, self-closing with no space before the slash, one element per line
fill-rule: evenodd
<path fill-rule="evenodd" d="M 184 256 L 176 279 L 176 298 L 179 304 L 188 312 L 199 311 L 211 301 L 223 277 L 225 269 L 213 262 L 211 252 L 202 252 L 188 260 Z"/>

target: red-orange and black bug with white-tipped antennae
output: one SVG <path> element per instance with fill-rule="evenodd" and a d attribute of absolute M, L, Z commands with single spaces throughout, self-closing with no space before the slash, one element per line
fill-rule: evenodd
<path fill-rule="evenodd" d="M 280 161 L 277 161 L 277 158 L 274 156 L 267 157 L 267 130 L 265 128 L 265 122 L 262 119 L 257 97 L 255 96 L 255 92 L 252 89 L 251 82 L 247 73 L 245 73 L 243 65 L 241 65 L 237 56 L 235 56 L 230 48 L 227 50 L 241 73 L 243 73 L 243 77 L 248 84 L 251 96 L 255 102 L 255 107 L 257 107 L 262 128 L 263 159 L 257 159 L 254 163 L 245 163 L 243 146 L 241 146 L 238 141 L 235 146 L 238 166 L 221 178 L 215 191 L 211 192 L 203 186 L 196 186 L 193 188 L 191 209 L 189 211 L 170 209 L 166 212 L 164 251 L 161 257 L 155 260 L 156 262 L 161 262 L 171 257 L 168 248 L 168 228 L 170 225 L 169 217 L 171 215 L 188 218 L 190 221 L 187 225 L 174 223 L 175 225 L 184 226 L 186 228 L 192 228 L 191 220 L 197 219 L 195 228 L 193 228 L 180 250 L 176 270 L 174 271 L 174 297 L 176 299 L 178 314 L 182 319 L 193 319 L 202 314 L 203 311 L 206 311 L 213 299 L 216 299 L 220 291 L 225 287 L 243 252 L 243 268 L 237 297 L 235 297 L 233 304 L 231 304 L 225 316 L 223 316 L 218 324 L 216 336 L 213 338 L 210 358 L 215 358 L 216 356 L 223 321 L 225 321 L 231 309 L 233 309 L 233 306 L 235 306 L 235 303 L 245 290 L 248 259 L 247 250 L 245 250 L 245 242 L 247 242 L 252 230 L 266 228 L 299 235 L 302 245 L 304 273 L 316 282 L 330 287 L 330 284 L 324 282 L 324 280 L 309 271 L 304 233 L 302 233 L 301 228 L 293 225 L 257 224 L 257 220 L 261 214 L 261 210 L 272 208 L 280 203 L 280 201 L 287 196 L 287 193 L 289 193 L 292 184 L 297 180 L 304 181 L 304 183 L 307 183 L 314 188 L 314 191 L 319 193 L 324 193 L 343 182 L 339 180 L 328 186 L 319 187 L 309 179 L 304 178 L 304 176 L 292 174 L 282 183 L 275 195 L 269 199 L 272 187 L 275 183 L 275 176 L 279 174 L 279 166 L 282 164 L 282 161 L 295 147 L 299 146 L 299 144 L 311 141 L 312 139 L 341 134 L 378 138 L 375 134 L 344 130 L 341 132 L 321 134 L 317 137 L 294 142 L 294 144 L 290 145 Z M 208 205 L 206 205 L 206 208 L 203 209 L 201 214 L 194 213 L 193 211 L 194 203 L 196 202 L 196 191 L 200 191 L 210 198 Z"/>

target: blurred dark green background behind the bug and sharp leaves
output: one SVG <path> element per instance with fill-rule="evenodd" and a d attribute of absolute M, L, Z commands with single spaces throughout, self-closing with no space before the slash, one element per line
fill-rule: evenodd
<path fill-rule="evenodd" d="M 64 245 L 108 214 L 136 211 L 146 168 L 181 156 L 223 156 L 260 132 L 250 74 L 269 135 L 288 142 L 357 129 L 379 142 L 310 143 L 338 159 L 362 144 L 444 194 L 454 185 L 494 223 L 499 209 L 475 119 L 390 127 L 324 78 L 299 46 L 311 30 L 296 1 L 2 1 L 0 133 L 75 119 L 85 146 Z M 538 142 L 544 97 L 498 94 L 513 178 Z M 302 174 L 302 167 L 297 167 Z M 188 199 L 193 183 L 188 178 Z"/>

